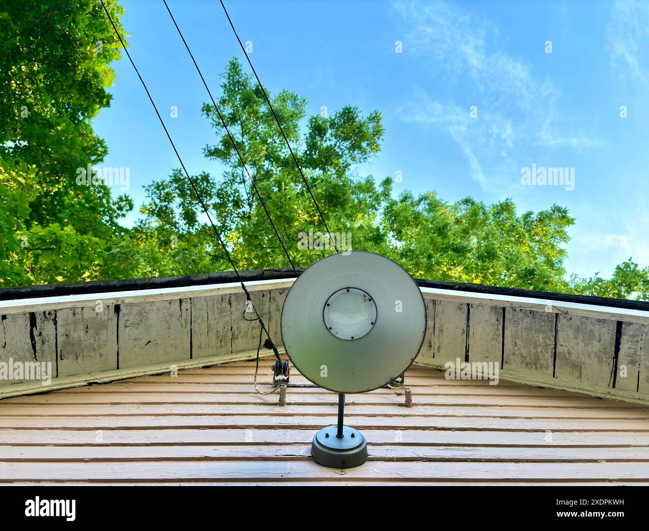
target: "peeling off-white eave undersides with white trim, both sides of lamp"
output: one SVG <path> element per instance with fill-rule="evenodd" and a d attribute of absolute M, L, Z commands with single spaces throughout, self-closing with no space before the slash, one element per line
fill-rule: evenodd
<path fill-rule="evenodd" d="M 293 281 L 247 283 L 277 344 Z M 421 290 L 428 329 L 419 364 L 499 362 L 503 380 L 649 403 L 649 311 Z M 259 339 L 258 324 L 241 318 L 244 310 L 238 283 L 0 301 L 0 361 L 53 362 L 51 389 L 170 364 L 244 359 Z M 42 390 L 40 382 L 0 382 L 0 395 Z"/>

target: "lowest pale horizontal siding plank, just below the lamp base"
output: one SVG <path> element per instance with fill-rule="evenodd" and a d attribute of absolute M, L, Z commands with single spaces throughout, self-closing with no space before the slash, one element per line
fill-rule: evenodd
<path fill-rule="evenodd" d="M 458 480 L 491 480 L 498 482 L 549 480 L 556 482 L 593 480 L 643 481 L 649 477 L 649 462 L 614 463 L 500 463 L 500 462 L 391 462 L 377 466 L 338 469 L 319 466 L 310 460 L 295 461 L 217 461 L 217 462 L 0 462 L 0 482 L 31 480 L 72 480 L 84 478 L 88 482 L 100 480 L 113 483 L 137 481 L 260 481 L 274 480 L 333 480 L 341 475 L 346 479 L 402 482 Z"/>

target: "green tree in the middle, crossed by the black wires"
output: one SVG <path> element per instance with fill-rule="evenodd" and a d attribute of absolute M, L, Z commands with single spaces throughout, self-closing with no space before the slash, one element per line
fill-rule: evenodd
<path fill-rule="evenodd" d="M 217 104 L 249 175 L 214 107 L 205 104 L 203 113 L 212 122 L 217 139 L 214 145 L 204 148 L 204 153 L 225 165 L 226 170 L 219 182 L 207 174 L 193 177 L 199 183 L 201 196 L 218 221 L 238 268 L 289 266 L 256 196 L 254 182 L 293 262 L 296 266 L 308 266 L 333 247 L 313 252 L 298 250 L 300 233 L 310 229 L 324 231 L 324 226 L 263 93 L 243 73 L 237 60 L 228 64 L 221 87 L 223 93 Z M 286 136 L 298 152 L 302 171 L 330 230 L 352 233 L 354 248 L 385 251 L 385 238 L 377 220 L 380 208 L 389 198 L 389 188 L 377 189 L 371 177 L 350 177 L 355 167 L 378 153 L 383 134 L 380 114 L 373 112 L 363 117 L 358 109 L 345 107 L 331 117 L 309 117 L 302 138 L 300 122 L 305 118 L 306 100 L 282 91 L 271 101 Z M 207 270 L 228 268 L 214 233 L 204 216 L 197 215 L 197 204 L 180 172 L 154 182 L 147 192 L 151 202 L 143 207 L 143 218 L 134 230 L 139 238 L 156 237 L 164 248 L 177 235 L 176 261 L 182 257 L 184 263 L 198 265 L 199 255 L 207 254 L 208 261 L 202 262 Z M 197 249 L 201 250 L 199 255 Z"/>

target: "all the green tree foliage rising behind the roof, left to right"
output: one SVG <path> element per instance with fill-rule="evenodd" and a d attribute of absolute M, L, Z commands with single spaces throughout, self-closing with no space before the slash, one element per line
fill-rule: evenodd
<path fill-rule="evenodd" d="M 7 95 L 0 112 L 8 124 L 0 139 L 1 285 L 227 270 L 180 170 L 145 187 L 147 201 L 128 230 L 117 220 L 132 209 L 130 198 L 111 198 L 101 184 L 75 185 L 75 170 L 106 154 L 90 119 L 110 102 L 108 64 L 117 58 L 117 45 L 92 0 L 58 9 L 31 4 L 29 17 L 18 3 L 8 3 L 8 14 L 0 15 L 3 35 L 12 35 L 0 43 Z M 108 6 L 119 18 L 116 3 Z M 249 174 L 214 106 L 204 104 L 215 131 L 204 154 L 225 170 L 218 179 L 201 173 L 193 180 L 238 268 L 289 265 L 252 183 L 295 265 L 308 266 L 333 252 L 318 238 L 324 233 L 319 213 L 260 88 L 238 60 L 222 77 L 217 104 Z M 390 179 L 377 183 L 358 174 L 380 152 L 380 113 L 345 106 L 307 116 L 306 100 L 288 90 L 271 101 L 330 231 L 342 235 L 334 240 L 343 250 L 387 255 L 428 279 L 647 298 L 649 268 L 631 260 L 611 279 L 567 279 L 567 229 L 574 224 L 567 209 L 519 214 L 511 200 L 487 205 L 471 198 L 449 204 L 435 193 L 395 197 Z M 21 117 L 22 106 L 28 118 Z M 305 248 L 310 244 L 315 248 Z"/>

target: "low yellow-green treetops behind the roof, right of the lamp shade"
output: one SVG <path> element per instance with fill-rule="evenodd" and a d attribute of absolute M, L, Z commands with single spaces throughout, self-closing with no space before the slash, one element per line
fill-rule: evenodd
<path fill-rule="evenodd" d="M 433 193 L 389 200 L 384 225 L 390 254 L 412 274 L 437 280 L 563 291 L 567 209 L 517 216 L 511 200 L 490 206 L 465 198 L 447 204 Z"/>

